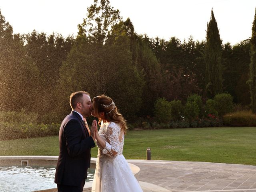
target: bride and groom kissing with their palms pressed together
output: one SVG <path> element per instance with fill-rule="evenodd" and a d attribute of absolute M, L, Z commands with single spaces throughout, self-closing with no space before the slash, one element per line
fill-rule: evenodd
<path fill-rule="evenodd" d="M 92 192 L 142 192 L 122 155 L 126 120 L 114 101 L 105 95 L 90 99 L 88 92 L 70 96 L 72 112 L 64 118 L 59 132 L 59 157 L 54 182 L 58 192 L 82 192 L 90 167 L 90 149 L 98 146 Z M 86 117 L 93 120 L 89 129 Z M 96 144 L 95 144 L 96 143 Z"/>

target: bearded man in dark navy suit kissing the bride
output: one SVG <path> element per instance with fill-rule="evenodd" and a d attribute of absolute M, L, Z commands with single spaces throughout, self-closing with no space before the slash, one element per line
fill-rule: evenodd
<path fill-rule="evenodd" d="M 96 120 L 91 133 L 84 118 L 90 116 L 92 102 L 87 92 L 74 92 L 70 96 L 71 114 L 62 121 L 59 132 L 59 158 L 55 180 L 58 192 L 82 192 L 87 169 L 90 166 L 90 149 L 95 147 Z"/>

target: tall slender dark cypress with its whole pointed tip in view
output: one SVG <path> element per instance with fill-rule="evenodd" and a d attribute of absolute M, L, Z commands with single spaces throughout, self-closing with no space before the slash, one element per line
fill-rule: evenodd
<path fill-rule="evenodd" d="M 205 96 L 214 97 L 222 92 L 222 40 L 212 10 L 210 22 L 207 23 L 206 46 L 204 49 Z"/>

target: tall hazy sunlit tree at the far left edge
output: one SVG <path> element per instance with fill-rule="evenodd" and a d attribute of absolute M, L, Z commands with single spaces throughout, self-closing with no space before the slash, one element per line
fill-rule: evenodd
<path fill-rule="evenodd" d="M 13 34 L 0 12 L 0 110 L 31 110 L 37 77 L 36 66 L 26 58 L 23 37 Z"/>

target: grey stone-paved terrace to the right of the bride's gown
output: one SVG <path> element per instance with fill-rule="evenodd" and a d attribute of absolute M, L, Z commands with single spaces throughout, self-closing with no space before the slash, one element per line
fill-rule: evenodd
<path fill-rule="evenodd" d="M 139 180 L 173 192 L 256 192 L 256 166 L 208 162 L 128 160 Z"/>

